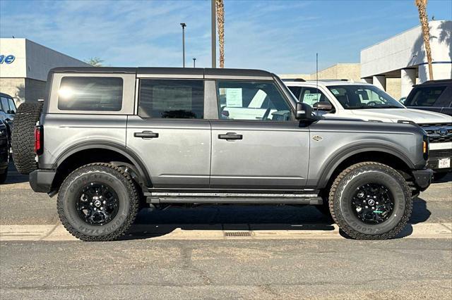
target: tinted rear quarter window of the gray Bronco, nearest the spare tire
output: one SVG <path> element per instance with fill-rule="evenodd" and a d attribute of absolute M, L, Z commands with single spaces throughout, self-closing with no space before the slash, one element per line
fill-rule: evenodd
<path fill-rule="evenodd" d="M 121 111 L 119 77 L 63 77 L 58 92 L 61 111 Z"/>

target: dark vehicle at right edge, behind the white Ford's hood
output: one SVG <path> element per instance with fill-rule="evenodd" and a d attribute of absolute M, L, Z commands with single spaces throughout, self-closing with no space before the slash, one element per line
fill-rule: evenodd
<path fill-rule="evenodd" d="M 431 80 L 413 85 L 403 104 L 408 108 L 452 115 L 452 80 Z"/>

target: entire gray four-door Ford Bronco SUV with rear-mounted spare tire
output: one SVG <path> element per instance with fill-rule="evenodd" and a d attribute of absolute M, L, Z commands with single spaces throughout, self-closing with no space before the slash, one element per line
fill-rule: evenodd
<path fill-rule="evenodd" d="M 47 85 L 18 108 L 13 159 L 84 241 L 145 206 L 202 204 L 314 204 L 388 239 L 432 179 L 419 126 L 315 116 L 263 70 L 55 68 Z"/>

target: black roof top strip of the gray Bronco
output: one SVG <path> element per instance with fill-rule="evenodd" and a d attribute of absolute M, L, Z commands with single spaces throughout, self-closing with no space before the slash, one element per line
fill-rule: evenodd
<path fill-rule="evenodd" d="M 52 73 L 136 73 L 137 75 L 203 75 L 203 76 L 246 76 L 273 77 L 273 73 L 253 69 L 225 68 L 117 68 L 117 67 L 59 67 Z"/>

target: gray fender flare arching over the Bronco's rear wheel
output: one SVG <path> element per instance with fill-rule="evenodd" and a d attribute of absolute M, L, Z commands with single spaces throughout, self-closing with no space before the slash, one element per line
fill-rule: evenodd
<path fill-rule="evenodd" d="M 125 156 L 138 170 L 138 175 L 143 180 L 143 183 L 146 187 L 152 187 L 152 182 L 150 181 L 150 176 L 148 170 L 145 167 L 145 164 L 141 159 L 135 154 L 131 149 L 122 146 L 121 144 L 117 144 L 115 142 L 106 142 L 106 141 L 90 141 L 90 142 L 81 142 L 71 146 L 70 148 L 63 151 L 52 165 L 52 169 L 56 170 L 61 163 L 66 161 L 67 158 L 76 154 L 83 150 L 88 149 L 107 149 L 111 151 L 115 151 L 123 156 Z"/>

